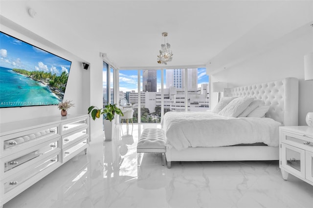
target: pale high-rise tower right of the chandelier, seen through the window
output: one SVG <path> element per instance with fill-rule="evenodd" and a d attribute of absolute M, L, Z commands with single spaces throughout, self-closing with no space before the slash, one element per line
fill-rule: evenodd
<path fill-rule="evenodd" d="M 198 88 L 198 69 L 187 69 L 188 80 L 185 83 L 185 69 L 167 69 L 166 70 L 166 88 L 175 86 L 176 88 L 188 89 Z"/>

